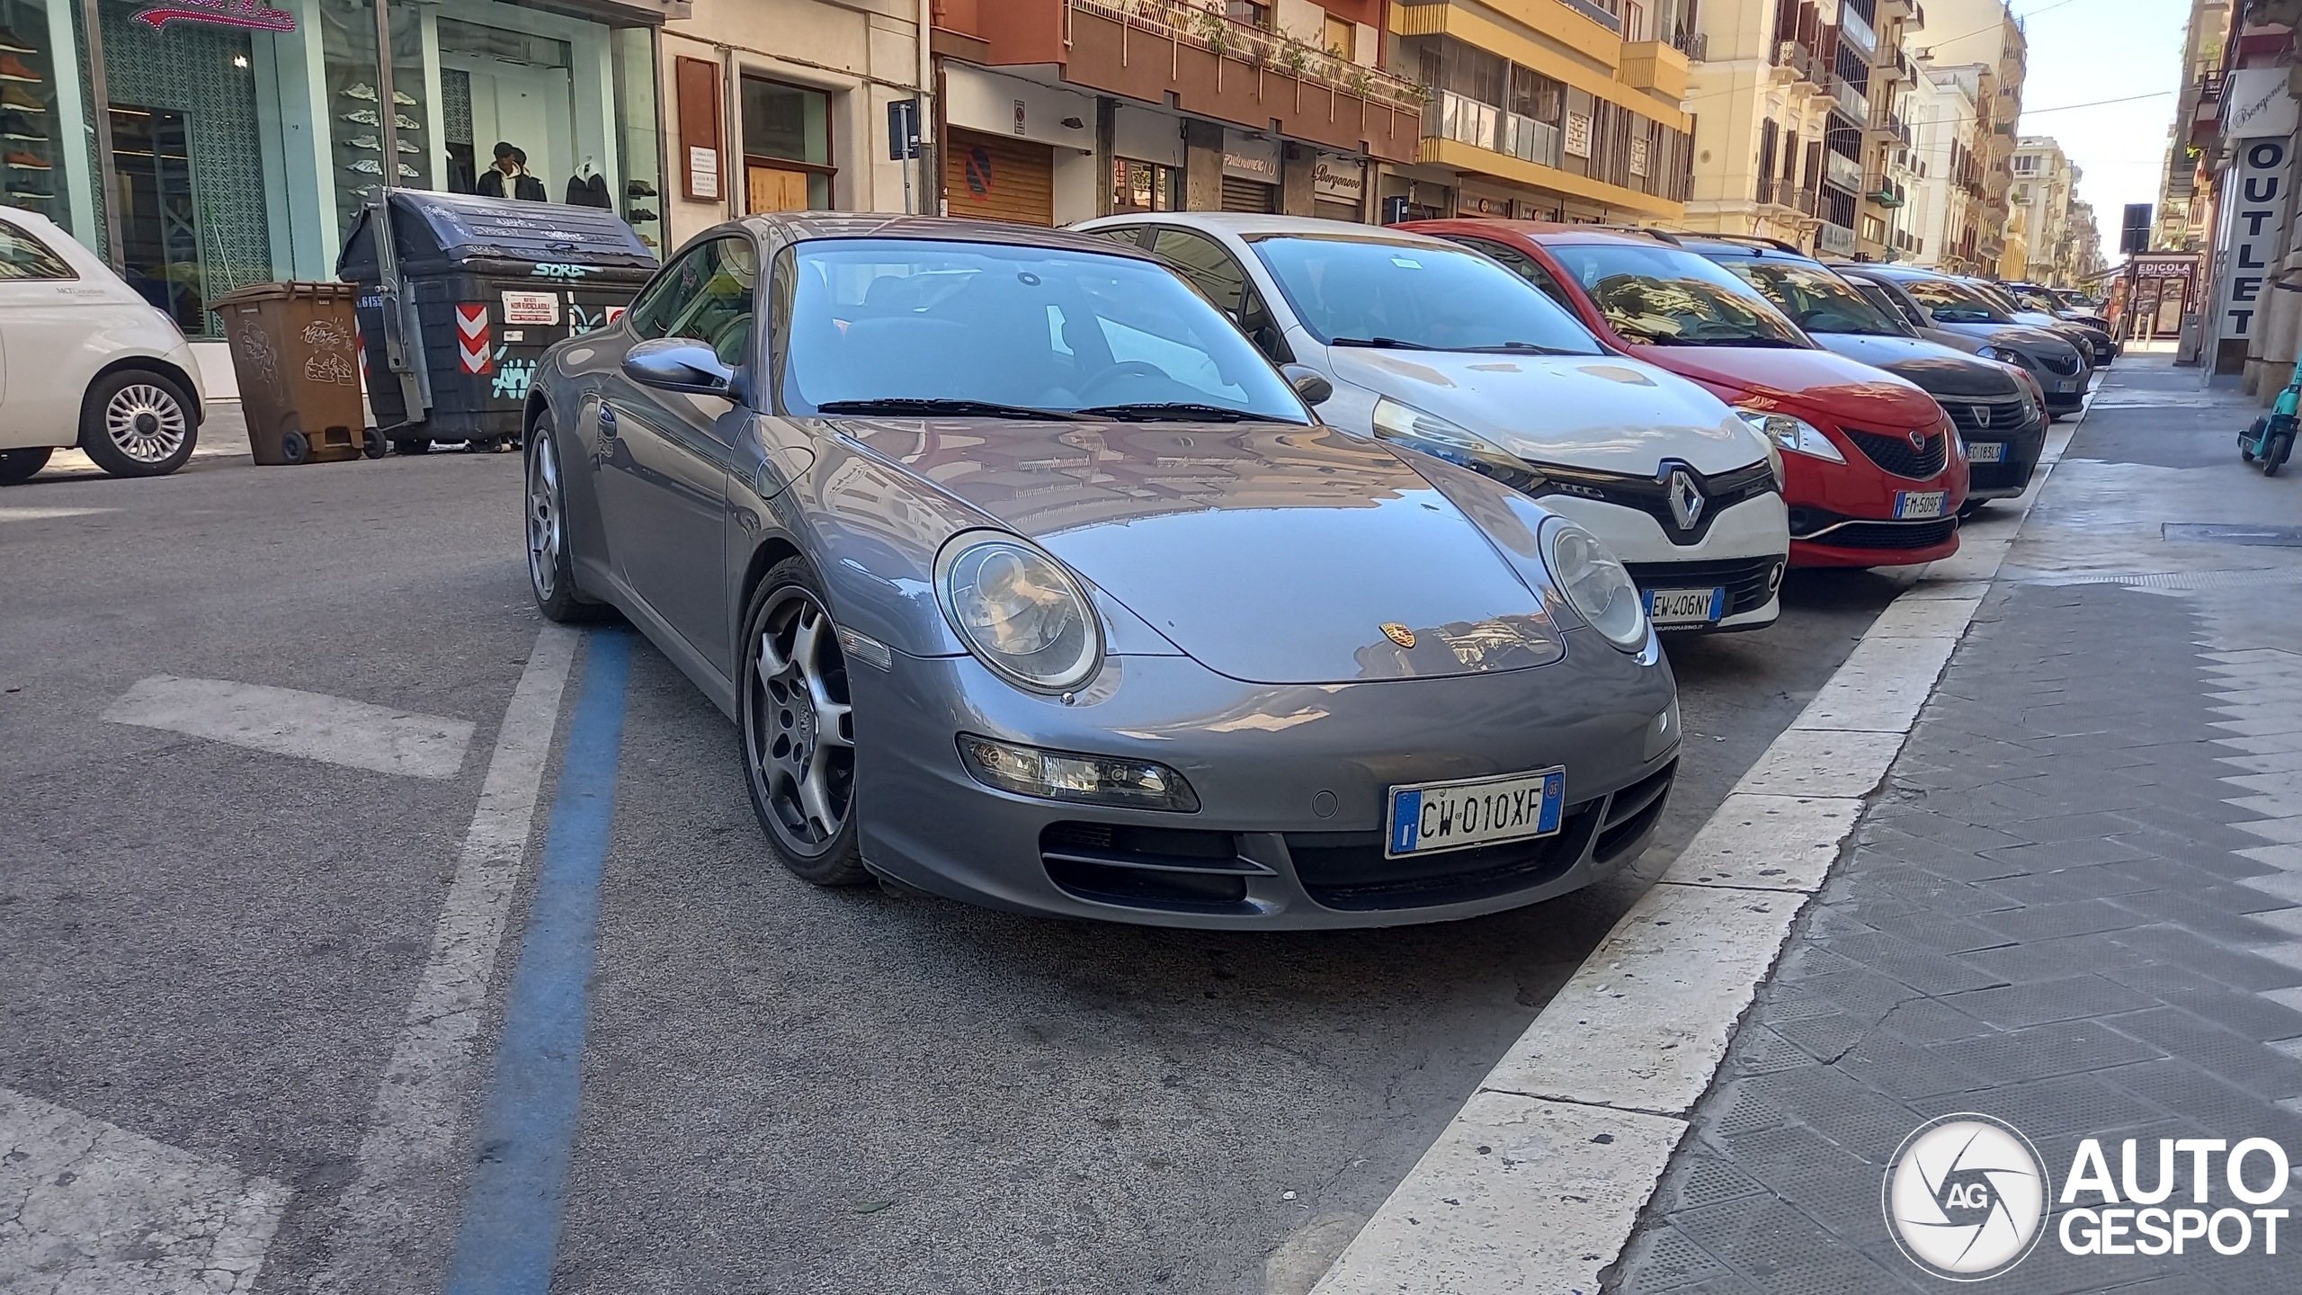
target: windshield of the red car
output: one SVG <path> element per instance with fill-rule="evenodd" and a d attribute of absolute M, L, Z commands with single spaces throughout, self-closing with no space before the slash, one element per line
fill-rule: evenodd
<path fill-rule="evenodd" d="M 1545 251 L 1591 293 L 1625 341 L 1807 348 L 1798 327 L 1756 288 L 1692 251 L 1637 242 L 1570 242 Z"/>

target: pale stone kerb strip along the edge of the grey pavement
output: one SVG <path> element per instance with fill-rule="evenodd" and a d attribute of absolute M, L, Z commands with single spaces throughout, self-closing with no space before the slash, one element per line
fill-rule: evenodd
<path fill-rule="evenodd" d="M 1878 615 L 1312 1295 L 1598 1293 L 2074 431 L 2049 438 L 2012 507 Z"/>

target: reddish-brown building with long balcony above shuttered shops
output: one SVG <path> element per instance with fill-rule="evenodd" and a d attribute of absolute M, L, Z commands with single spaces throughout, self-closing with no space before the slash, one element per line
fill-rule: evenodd
<path fill-rule="evenodd" d="M 1137 210 L 1370 221 L 1416 164 L 1423 90 L 1384 0 L 935 0 L 937 207 L 1070 224 Z"/>

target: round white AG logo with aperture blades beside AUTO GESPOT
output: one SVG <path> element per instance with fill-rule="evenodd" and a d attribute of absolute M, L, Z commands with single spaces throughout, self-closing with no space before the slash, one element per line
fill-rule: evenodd
<path fill-rule="evenodd" d="M 1982 1281 L 2030 1254 L 2046 1224 L 2037 1148 L 1989 1115 L 1920 1124 L 1885 1171 L 1885 1228 L 1911 1263 Z"/>

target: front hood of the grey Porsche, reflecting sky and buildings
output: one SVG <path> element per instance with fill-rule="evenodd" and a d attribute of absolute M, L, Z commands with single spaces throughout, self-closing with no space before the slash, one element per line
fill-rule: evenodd
<path fill-rule="evenodd" d="M 836 419 L 1029 535 L 1211 671 L 1340 684 L 1540 666 L 1563 641 L 1480 528 L 1326 426 Z M 1501 486 L 1496 486 L 1501 491 Z M 1413 645 L 1384 627 L 1404 627 Z"/>

